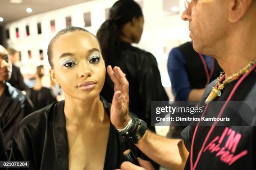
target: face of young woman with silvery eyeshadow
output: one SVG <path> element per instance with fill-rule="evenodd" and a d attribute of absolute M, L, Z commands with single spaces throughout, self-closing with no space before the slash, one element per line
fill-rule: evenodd
<path fill-rule="evenodd" d="M 97 39 L 89 32 L 61 35 L 52 46 L 51 77 L 66 95 L 79 100 L 97 97 L 105 81 L 105 63 Z"/>

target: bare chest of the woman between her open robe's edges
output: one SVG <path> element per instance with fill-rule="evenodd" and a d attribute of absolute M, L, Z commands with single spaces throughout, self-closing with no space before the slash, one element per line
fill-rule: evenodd
<path fill-rule="evenodd" d="M 74 130 L 67 128 L 69 170 L 103 170 L 108 145 L 109 126 Z"/>

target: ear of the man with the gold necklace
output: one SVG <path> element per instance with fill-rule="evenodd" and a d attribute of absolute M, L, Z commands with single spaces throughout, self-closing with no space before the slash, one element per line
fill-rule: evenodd
<path fill-rule="evenodd" d="M 243 18 L 251 6 L 253 0 L 230 0 L 228 20 L 231 23 L 236 23 Z"/>

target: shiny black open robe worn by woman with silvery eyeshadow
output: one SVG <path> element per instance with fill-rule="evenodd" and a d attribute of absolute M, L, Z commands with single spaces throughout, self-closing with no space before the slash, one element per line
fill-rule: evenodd
<path fill-rule="evenodd" d="M 101 100 L 110 116 L 111 105 L 102 97 Z M 67 170 L 69 157 L 65 124 L 64 100 L 27 116 L 13 138 L 10 161 L 29 161 L 31 170 Z M 125 141 L 110 124 L 104 170 L 120 168 L 124 161 L 123 151 L 127 149 L 131 149 L 136 156 L 142 155 L 135 145 Z"/>

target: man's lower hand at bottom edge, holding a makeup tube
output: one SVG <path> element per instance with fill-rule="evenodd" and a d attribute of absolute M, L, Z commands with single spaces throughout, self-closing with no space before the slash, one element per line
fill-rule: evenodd
<path fill-rule="evenodd" d="M 141 158 L 137 158 L 137 159 L 141 167 L 136 166 L 130 162 L 123 162 L 121 164 L 121 170 L 154 170 L 154 167 L 150 162 L 143 160 Z"/>

